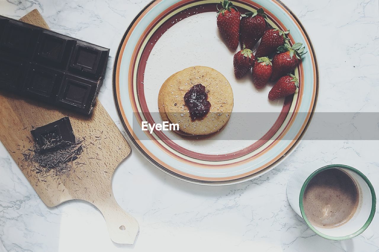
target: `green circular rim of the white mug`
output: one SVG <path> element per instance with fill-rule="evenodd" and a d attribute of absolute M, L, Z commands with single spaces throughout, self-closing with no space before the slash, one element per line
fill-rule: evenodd
<path fill-rule="evenodd" d="M 304 206 L 303 206 L 303 195 L 304 195 L 304 191 L 305 191 L 305 188 L 307 187 L 309 181 L 318 173 L 320 173 L 321 171 L 324 171 L 324 170 L 328 170 L 328 169 L 331 169 L 331 168 L 343 168 L 343 169 L 347 169 L 347 170 L 350 170 L 354 173 L 356 173 L 358 176 L 360 176 L 363 180 L 365 180 L 366 184 L 368 185 L 368 187 L 370 188 L 370 191 L 371 191 L 371 201 L 372 201 L 372 204 L 371 204 L 371 212 L 370 212 L 370 216 L 368 216 L 368 219 L 367 221 L 365 222 L 365 224 L 363 225 L 363 227 L 361 227 L 357 232 L 354 232 L 350 235 L 346 235 L 346 236 L 330 236 L 330 235 L 325 235 L 324 233 L 321 233 L 319 232 L 318 230 L 315 229 L 315 227 L 313 227 L 313 225 L 309 222 L 307 216 L 305 215 L 305 212 L 304 212 Z M 360 235 L 363 231 L 366 230 L 366 228 L 370 225 L 371 221 L 373 220 L 374 218 L 374 215 L 375 215 L 375 211 L 376 211 L 376 195 L 375 195 L 375 191 L 374 191 L 374 187 L 373 185 L 371 184 L 370 180 L 368 180 L 368 178 L 363 174 L 361 173 L 359 170 L 357 170 L 356 168 L 353 168 L 351 166 L 348 166 L 348 165 L 338 165 L 338 164 L 335 164 L 335 165 L 326 165 L 326 166 L 323 166 L 319 169 L 317 169 L 316 171 L 314 171 L 312 174 L 309 175 L 309 177 L 307 177 L 307 179 L 305 180 L 303 186 L 301 187 L 301 190 L 300 190 L 300 196 L 299 196 L 299 207 L 300 207 L 300 212 L 301 212 L 301 215 L 305 221 L 305 223 L 307 224 L 307 226 L 313 231 L 316 233 L 316 235 L 319 235 L 325 239 L 328 239 L 328 240 L 333 240 L 333 241 L 341 241 L 341 240 L 346 240 L 346 239 L 350 239 L 350 238 L 353 238 L 357 235 Z"/>

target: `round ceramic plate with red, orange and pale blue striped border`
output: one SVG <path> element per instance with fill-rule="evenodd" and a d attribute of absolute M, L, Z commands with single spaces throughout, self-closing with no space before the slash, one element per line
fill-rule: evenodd
<path fill-rule="evenodd" d="M 251 75 L 236 80 L 233 55 L 216 26 L 216 0 L 157 0 L 127 29 L 115 61 L 114 99 L 125 131 L 155 166 L 197 184 L 233 184 L 278 165 L 298 144 L 312 117 L 318 72 L 311 42 L 299 20 L 275 0 L 233 1 L 240 12 L 263 7 L 269 24 L 290 30 L 291 43 L 308 51 L 295 70 L 300 86 L 293 96 L 270 102 L 272 84 L 257 90 Z M 162 123 L 158 92 L 173 73 L 203 65 L 221 72 L 233 89 L 229 122 L 207 137 L 141 130 L 141 122 Z"/>

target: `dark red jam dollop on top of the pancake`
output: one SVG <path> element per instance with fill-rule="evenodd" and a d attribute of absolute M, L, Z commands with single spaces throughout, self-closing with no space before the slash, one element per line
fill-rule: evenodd
<path fill-rule="evenodd" d="M 184 102 L 189 109 L 189 114 L 193 121 L 202 119 L 208 114 L 211 103 L 207 100 L 208 95 L 202 84 L 191 87 L 184 95 Z"/>

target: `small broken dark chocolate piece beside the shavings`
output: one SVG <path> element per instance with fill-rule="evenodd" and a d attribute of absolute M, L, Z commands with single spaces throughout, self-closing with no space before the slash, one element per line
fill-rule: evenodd
<path fill-rule="evenodd" d="M 66 145 L 67 142 L 76 142 L 68 117 L 63 117 L 58 121 L 35 128 L 30 133 L 33 135 L 41 153 L 57 150 Z"/>

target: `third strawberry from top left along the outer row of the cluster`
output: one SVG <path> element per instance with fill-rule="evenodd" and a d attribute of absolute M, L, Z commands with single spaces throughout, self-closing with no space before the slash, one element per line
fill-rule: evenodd
<path fill-rule="evenodd" d="M 288 33 L 289 31 L 282 31 L 275 28 L 265 31 L 257 53 L 255 53 L 255 57 L 269 56 L 271 53 L 274 53 L 286 40 L 289 40 L 287 37 Z"/>

